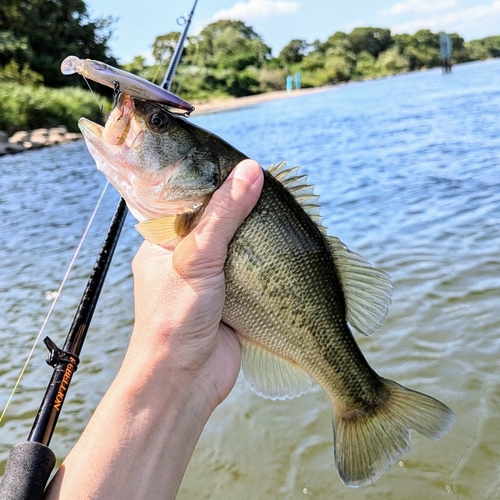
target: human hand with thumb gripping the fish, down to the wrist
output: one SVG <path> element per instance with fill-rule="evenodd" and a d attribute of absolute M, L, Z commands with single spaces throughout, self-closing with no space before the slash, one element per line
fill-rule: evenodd
<path fill-rule="evenodd" d="M 173 252 L 144 242 L 132 266 L 135 326 L 124 364 L 154 367 L 157 382 L 172 371 L 180 385 L 195 377 L 212 411 L 229 394 L 240 368 L 239 343 L 221 323 L 227 245 L 262 184 L 258 164 L 243 161 Z M 162 371 L 164 366 L 168 370 Z"/>

